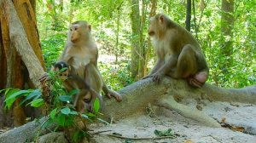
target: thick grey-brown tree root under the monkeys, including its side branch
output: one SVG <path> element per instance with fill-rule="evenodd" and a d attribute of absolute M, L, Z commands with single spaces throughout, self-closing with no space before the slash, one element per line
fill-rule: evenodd
<path fill-rule="evenodd" d="M 116 120 L 129 117 L 137 112 L 143 112 L 148 103 L 156 103 L 168 109 L 176 110 L 184 117 L 191 117 L 207 126 L 219 127 L 218 122 L 213 120 L 212 117 L 208 117 L 200 111 L 192 110 L 188 106 L 178 103 L 178 100 L 195 98 L 212 101 L 256 103 L 256 85 L 244 89 L 223 89 L 206 84 L 201 89 L 193 89 L 185 81 L 174 80 L 169 77 L 166 77 L 160 84 L 152 82 L 151 78 L 144 79 L 119 90 L 119 93 L 123 97 L 122 102 L 104 99 L 106 107 L 103 113 L 110 115 Z M 12 142 L 31 140 L 37 134 L 35 132 L 37 125 L 40 124 L 27 123 L 17 129 L 0 134 L 0 142 L 6 140 L 12 140 Z M 42 132 L 44 131 L 42 130 Z M 26 134 L 19 134 L 19 138 L 14 138 L 14 136 L 17 136 L 17 132 Z M 27 136 L 27 134 L 30 135 Z"/>

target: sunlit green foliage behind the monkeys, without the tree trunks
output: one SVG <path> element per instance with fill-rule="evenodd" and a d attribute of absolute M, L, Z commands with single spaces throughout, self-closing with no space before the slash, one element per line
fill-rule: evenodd
<path fill-rule="evenodd" d="M 140 1 L 141 2 L 141 1 Z M 195 1 L 197 39 L 207 57 L 210 76 L 207 83 L 225 88 L 241 88 L 256 84 L 256 10 L 253 0 L 235 2 L 235 23 L 233 35 L 223 37 L 221 31 L 221 2 L 205 1 L 206 9 L 201 13 L 200 1 Z M 145 23 L 143 36 L 147 38 L 150 1 L 145 1 Z M 49 4 L 55 5 L 49 10 Z M 140 3 L 140 12 L 142 12 Z M 61 9 L 62 8 L 62 9 Z M 165 13 L 181 26 L 185 26 L 185 1 L 162 0 L 157 3 L 157 13 Z M 131 78 L 131 5 L 129 1 L 65 1 L 63 7 L 55 1 L 38 3 L 38 29 L 47 67 L 58 59 L 66 41 L 69 23 L 88 20 L 92 34 L 99 43 L 100 58 L 108 54 L 118 59 L 100 63 L 102 76 L 112 89 L 121 89 L 134 82 Z M 141 19 L 141 17 L 138 17 Z M 53 28 L 55 26 L 55 28 Z M 119 31 L 118 28 L 119 27 Z M 66 28 L 66 29 L 65 29 Z M 191 31 L 195 35 L 195 24 L 191 21 Z M 139 36 L 136 36 L 139 37 Z M 146 40 L 145 40 L 146 41 Z M 223 53 L 224 42 L 231 42 L 229 56 Z M 145 42 L 145 49 L 148 49 Z M 229 51 L 228 51 L 229 52 Z M 144 55 L 142 55 L 144 56 Z M 153 54 L 152 54 L 153 56 Z M 139 57 L 141 58 L 141 57 Z M 153 59 L 153 57 L 151 57 Z"/>

